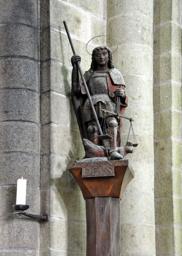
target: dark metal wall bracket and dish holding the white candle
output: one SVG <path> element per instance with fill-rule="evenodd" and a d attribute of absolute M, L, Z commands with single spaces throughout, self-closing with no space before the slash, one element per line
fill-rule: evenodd
<path fill-rule="evenodd" d="M 13 214 L 19 214 L 20 216 L 24 215 L 24 216 L 34 218 L 34 219 L 39 219 L 39 220 L 45 220 L 45 221 L 49 220 L 49 217 L 47 214 L 35 215 L 35 214 L 24 212 L 29 208 L 28 204 L 14 204 L 13 208 L 15 211 L 18 211 L 18 212 L 14 212 Z"/>

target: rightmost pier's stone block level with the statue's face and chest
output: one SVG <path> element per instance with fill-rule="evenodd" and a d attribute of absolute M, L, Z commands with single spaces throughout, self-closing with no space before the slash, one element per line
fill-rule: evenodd
<path fill-rule="evenodd" d="M 178 68 L 177 68 L 178 67 Z M 154 57 L 154 83 L 174 80 L 180 82 L 180 56 L 178 54 L 164 53 Z"/>

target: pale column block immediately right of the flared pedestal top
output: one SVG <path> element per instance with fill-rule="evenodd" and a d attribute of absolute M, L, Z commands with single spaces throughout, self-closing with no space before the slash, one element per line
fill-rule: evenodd
<path fill-rule="evenodd" d="M 134 149 L 135 150 L 135 149 Z M 134 152 L 133 154 L 136 154 Z M 127 157 L 125 157 L 127 158 Z M 129 182 L 125 194 L 154 194 L 154 170 L 153 165 L 132 163 L 135 177 Z"/>

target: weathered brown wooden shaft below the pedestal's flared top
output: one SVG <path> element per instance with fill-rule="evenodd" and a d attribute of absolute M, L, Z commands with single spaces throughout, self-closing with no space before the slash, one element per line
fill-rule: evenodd
<path fill-rule="evenodd" d="M 86 256 L 120 256 L 119 200 L 86 199 Z"/>

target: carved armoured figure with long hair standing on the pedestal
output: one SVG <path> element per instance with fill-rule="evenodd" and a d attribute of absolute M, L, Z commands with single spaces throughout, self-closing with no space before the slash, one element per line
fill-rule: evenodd
<path fill-rule="evenodd" d="M 98 136 L 99 128 L 95 120 L 96 118 L 94 118 L 82 80 L 79 80 L 76 62 L 80 62 L 80 56 L 74 54 L 71 62 L 73 66 L 72 103 L 86 151 L 86 157 L 109 156 L 111 160 L 122 159 L 122 155 L 132 152 L 133 147 L 132 142 L 129 143 L 127 150 L 128 147 L 130 147 L 130 150 L 125 152 L 125 148 L 120 145 L 122 119 L 119 115 L 116 115 L 116 112 L 123 115 L 127 107 L 127 95 L 123 77 L 114 68 L 112 51 L 107 46 L 96 47 L 92 52 L 90 69 L 84 74 L 98 121 L 102 129 L 105 125 L 107 134 L 110 135 L 107 142 L 100 140 L 100 136 Z M 103 120 L 106 122 L 105 124 L 103 124 Z M 108 152 L 106 148 L 108 148 Z"/>

